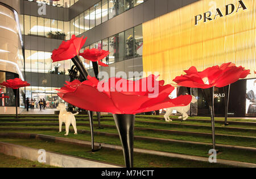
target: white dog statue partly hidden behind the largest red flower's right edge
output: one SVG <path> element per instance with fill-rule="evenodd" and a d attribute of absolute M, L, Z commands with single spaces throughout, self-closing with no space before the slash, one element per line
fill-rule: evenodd
<path fill-rule="evenodd" d="M 186 119 L 188 118 L 187 112 L 188 112 L 189 109 L 190 109 L 191 103 L 196 103 L 196 102 L 197 102 L 196 97 L 194 97 L 194 96 L 192 95 L 192 99 L 191 99 L 191 102 L 189 103 L 189 105 L 187 105 L 187 106 L 178 106 L 178 107 L 170 107 L 170 108 L 167 108 L 167 109 L 166 109 L 166 114 L 164 114 L 164 119 L 166 119 L 166 122 L 172 121 L 169 116 L 172 114 L 172 111 L 173 111 L 173 110 L 176 110 L 177 112 L 179 112 L 179 113 L 182 114 L 181 116 L 179 116 L 179 119 L 183 118 L 183 120 L 186 120 Z"/>

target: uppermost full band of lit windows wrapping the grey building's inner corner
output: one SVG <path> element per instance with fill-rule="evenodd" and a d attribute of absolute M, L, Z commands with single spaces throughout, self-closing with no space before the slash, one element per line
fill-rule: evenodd
<path fill-rule="evenodd" d="M 44 2 L 48 4 L 47 1 Z M 58 6 L 59 3 L 62 5 L 63 3 L 65 4 L 65 2 L 69 1 L 53 1 L 53 3 L 58 3 Z M 143 2 L 144 1 L 136 0 L 102 0 L 69 22 L 29 15 L 20 15 L 20 22 L 23 22 L 22 33 L 24 35 L 69 40 L 73 34 L 76 36 L 80 35 Z"/>

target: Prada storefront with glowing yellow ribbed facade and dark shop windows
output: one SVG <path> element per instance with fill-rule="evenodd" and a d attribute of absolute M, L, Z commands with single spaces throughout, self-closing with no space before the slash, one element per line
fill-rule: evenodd
<path fill-rule="evenodd" d="M 190 66 L 203 70 L 228 62 L 242 65 L 251 74 L 232 84 L 229 114 L 256 116 L 255 10 L 254 0 L 205 0 L 143 23 L 144 72 L 158 72 L 161 80 L 173 83 Z M 178 95 L 185 92 L 177 90 Z M 223 91 L 216 88 L 214 93 L 215 113 L 223 115 Z M 193 94 L 199 99 L 196 114 L 207 114 L 201 91 Z"/>

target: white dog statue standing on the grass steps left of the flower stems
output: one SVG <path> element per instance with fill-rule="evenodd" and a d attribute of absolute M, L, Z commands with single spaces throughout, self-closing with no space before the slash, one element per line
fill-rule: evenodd
<path fill-rule="evenodd" d="M 60 110 L 60 114 L 59 114 L 60 131 L 59 132 L 61 132 L 62 123 L 64 122 L 65 127 L 66 127 L 65 136 L 68 135 L 70 124 L 72 124 L 72 126 L 74 128 L 74 131 L 75 131 L 75 134 L 77 134 L 75 115 L 77 115 L 79 113 L 77 112 L 76 114 L 73 114 L 71 112 L 67 112 L 66 106 L 65 106 L 64 103 L 59 103 L 59 106 L 57 106 L 57 109 Z"/>

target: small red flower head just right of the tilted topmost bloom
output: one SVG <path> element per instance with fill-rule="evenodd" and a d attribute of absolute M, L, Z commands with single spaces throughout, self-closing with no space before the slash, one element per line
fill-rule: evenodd
<path fill-rule="evenodd" d="M 98 64 L 101 66 L 109 66 L 101 62 L 102 59 L 109 55 L 109 51 L 92 48 L 85 49 L 84 53 L 79 53 L 79 55 L 84 57 L 86 60 L 98 61 Z"/>

